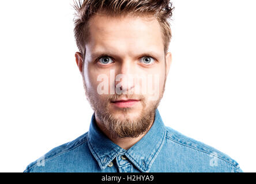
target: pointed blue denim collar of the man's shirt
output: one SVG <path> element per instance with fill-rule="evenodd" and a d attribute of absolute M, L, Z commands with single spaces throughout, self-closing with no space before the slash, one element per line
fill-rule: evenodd
<path fill-rule="evenodd" d="M 155 120 L 146 135 L 129 150 L 125 150 L 113 143 L 97 127 L 95 113 L 93 113 L 88 132 L 88 145 L 101 169 L 106 168 L 117 155 L 123 154 L 139 170 L 149 172 L 150 167 L 163 147 L 165 133 L 164 123 L 161 120 L 159 110 L 156 109 Z"/>

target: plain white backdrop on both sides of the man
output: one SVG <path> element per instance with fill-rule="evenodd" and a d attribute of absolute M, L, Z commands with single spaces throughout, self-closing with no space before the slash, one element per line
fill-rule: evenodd
<path fill-rule="evenodd" d="M 256 2 L 173 2 L 164 123 L 255 172 Z M 0 2 L 1 172 L 22 172 L 88 131 L 71 3 Z"/>

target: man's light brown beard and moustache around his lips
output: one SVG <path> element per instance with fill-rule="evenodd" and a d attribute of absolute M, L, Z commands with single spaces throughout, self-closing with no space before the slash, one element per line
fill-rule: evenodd
<path fill-rule="evenodd" d="M 104 129 L 110 133 L 111 139 L 126 137 L 135 138 L 146 133 L 155 121 L 155 111 L 163 97 L 165 82 L 163 91 L 161 91 L 161 94 L 159 95 L 159 99 L 151 101 L 151 103 L 148 104 L 148 107 L 146 106 L 146 99 L 143 95 L 113 94 L 107 95 L 106 98 L 101 99 L 97 94 L 93 93 L 93 91 L 87 89 L 85 81 L 84 88 L 86 98 L 95 112 L 95 115 L 97 114 L 97 118 L 99 118 L 101 124 L 103 124 Z M 137 118 L 129 118 L 128 114 L 133 110 L 132 107 L 118 109 L 118 111 L 125 116 L 124 119 L 116 118 L 113 113 L 111 113 L 108 105 L 110 105 L 111 101 L 115 101 L 121 97 L 140 99 L 142 112 Z"/>

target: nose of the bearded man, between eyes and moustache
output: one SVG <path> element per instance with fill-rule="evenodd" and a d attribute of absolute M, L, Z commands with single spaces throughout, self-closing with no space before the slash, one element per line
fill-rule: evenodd
<path fill-rule="evenodd" d="M 134 66 L 126 60 L 122 62 L 118 68 L 115 77 L 115 88 L 120 93 L 125 93 L 134 87 Z"/>

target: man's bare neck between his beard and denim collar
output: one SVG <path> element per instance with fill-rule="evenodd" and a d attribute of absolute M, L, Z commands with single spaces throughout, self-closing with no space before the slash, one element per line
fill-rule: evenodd
<path fill-rule="evenodd" d="M 136 144 L 138 141 L 140 141 L 142 139 L 142 137 L 144 137 L 146 135 L 146 133 L 148 133 L 149 129 L 152 127 L 154 120 L 151 122 L 148 130 L 143 133 L 142 135 L 138 136 L 138 137 L 125 137 L 125 138 L 119 138 L 119 137 L 111 137 L 111 132 L 108 131 L 103 123 L 99 120 L 99 118 L 97 117 L 97 114 L 95 113 L 95 120 L 96 120 L 96 125 L 97 127 L 100 128 L 100 130 L 115 144 L 119 145 L 119 147 L 128 150 L 130 147 L 132 147 L 134 144 Z"/>

